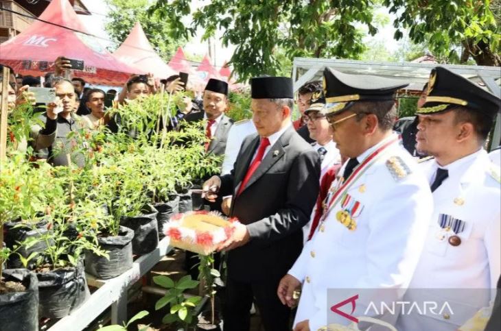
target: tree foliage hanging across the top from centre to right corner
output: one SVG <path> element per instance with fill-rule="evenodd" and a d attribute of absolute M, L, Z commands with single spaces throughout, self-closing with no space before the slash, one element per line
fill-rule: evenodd
<path fill-rule="evenodd" d="M 466 63 L 471 56 L 478 64 L 500 65 L 499 13 L 493 14 L 500 1 L 212 0 L 191 8 L 189 0 L 156 0 L 148 12 L 168 22 L 177 37 L 188 38 L 200 27 L 209 38 L 221 29 L 222 44 L 237 47 L 231 63 L 245 80 L 287 72 L 284 58 L 360 58 L 370 46 L 363 37 L 387 21 L 375 12 L 381 8 L 397 16 L 396 40 L 408 32 L 441 60 Z M 190 15 L 185 26 L 182 19 Z"/>

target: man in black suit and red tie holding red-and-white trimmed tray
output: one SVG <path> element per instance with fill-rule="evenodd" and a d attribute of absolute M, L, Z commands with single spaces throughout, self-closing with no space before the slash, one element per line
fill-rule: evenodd
<path fill-rule="evenodd" d="M 303 247 L 301 228 L 310 219 L 318 195 L 320 160 L 292 127 L 292 80 L 251 79 L 253 121 L 257 134 L 245 138 L 233 171 L 204 183 L 206 199 L 233 195 L 233 237 L 229 251 L 225 331 L 249 330 L 255 299 L 266 331 L 290 330 L 291 311 L 275 294 Z"/>

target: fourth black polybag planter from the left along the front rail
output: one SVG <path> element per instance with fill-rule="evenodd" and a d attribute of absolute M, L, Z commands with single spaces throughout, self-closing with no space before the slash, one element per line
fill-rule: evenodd
<path fill-rule="evenodd" d="M 134 231 L 132 253 L 141 255 L 152 252 L 159 245 L 159 226 L 156 222 L 158 213 L 152 205 L 146 205 L 143 214 L 136 217 L 123 217 L 120 225 Z"/>

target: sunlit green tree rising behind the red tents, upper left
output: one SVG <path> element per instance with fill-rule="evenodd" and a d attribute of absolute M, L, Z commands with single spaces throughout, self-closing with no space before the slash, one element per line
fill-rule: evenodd
<path fill-rule="evenodd" d="M 158 14 L 148 15 L 149 0 L 106 0 L 110 11 L 105 29 L 111 40 L 116 42 L 113 50 L 127 38 L 135 23 L 139 21 L 150 44 L 164 60 L 170 60 L 177 47 L 185 45 L 187 38 L 179 38 L 172 32 L 172 26 Z"/>

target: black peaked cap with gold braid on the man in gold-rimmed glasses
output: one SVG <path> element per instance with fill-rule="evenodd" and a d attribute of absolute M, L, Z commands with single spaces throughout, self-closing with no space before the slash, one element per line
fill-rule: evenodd
<path fill-rule="evenodd" d="M 397 90 L 408 82 L 372 75 L 352 75 L 331 68 L 323 71 L 325 109 L 323 114 L 338 114 L 356 101 L 393 100 Z"/>

